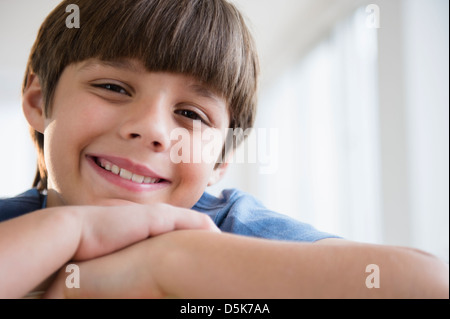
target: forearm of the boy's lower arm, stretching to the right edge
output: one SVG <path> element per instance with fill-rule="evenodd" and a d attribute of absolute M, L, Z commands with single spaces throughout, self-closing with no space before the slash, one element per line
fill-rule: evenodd
<path fill-rule="evenodd" d="M 206 232 L 164 236 L 166 253 L 156 278 L 170 296 L 448 298 L 448 267 L 410 249 L 280 243 Z M 380 269 L 380 288 L 366 286 L 369 264 Z"/>

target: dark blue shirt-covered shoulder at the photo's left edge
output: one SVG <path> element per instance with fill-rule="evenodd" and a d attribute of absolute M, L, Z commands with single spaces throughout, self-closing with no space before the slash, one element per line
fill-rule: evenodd
<path fill-rule="evenodd" d="M 32 188 L 11 198 L 0 199 L 0 222 L 45 207 L 45 195 Z"/>

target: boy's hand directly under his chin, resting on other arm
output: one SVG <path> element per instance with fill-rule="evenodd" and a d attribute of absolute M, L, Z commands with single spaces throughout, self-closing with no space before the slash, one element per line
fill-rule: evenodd
<path fill-rule="evenodd" d="M 83 207 L 78 214 L 81 235 L 73 260 L 103 256 L 174 230 L 220 232 L 209 216 L 168 204 Z"/>

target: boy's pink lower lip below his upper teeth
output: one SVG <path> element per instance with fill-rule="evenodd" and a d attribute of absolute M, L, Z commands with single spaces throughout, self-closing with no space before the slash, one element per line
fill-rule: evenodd
<path fill-rule="evenodd" d="M 168 181 L 162 181 L 162 182 L 154 183 L 154 184 L 135 183 L 131 180 L 123 179 L 119 175 L 116 175 L 110 171 L 107 171 L 107 170 L 101 168 L 100 166 L 97 165 L 97 163 L 95 162 L 95 159 L 93 157 L 86 156 L 86 159 L 87 159 L 89 165 L 95 170 L 95 172 L 98 175 L 103 177 L 109 183 L 119 186 L 128 191 L 149 192 L 149 191 L 155 191 L 155 190 L 165 188 L 170 184 L 170 182 L 168 182 Z"/>

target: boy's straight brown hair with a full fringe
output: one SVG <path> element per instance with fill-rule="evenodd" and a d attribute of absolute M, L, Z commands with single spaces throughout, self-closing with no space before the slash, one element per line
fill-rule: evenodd
<path fill-rule="evenodd" d="M 79 7 L 80 28 L 66 26 L 70 4 Z M 258 57 L 242 15 L 226 0 L 63 1 L 39 30 L 23 89 L 30 72 L 37 74 L 48 116 L 64 68 L 89 58 L 135 58 L 148 71 L 191 75 L 226 98 L 231 128 L 253 125 Z M 38 149 L 33 186 L 45 189 L 44 136 L 31 133 Z"/>

